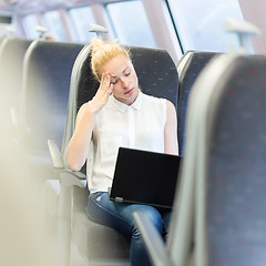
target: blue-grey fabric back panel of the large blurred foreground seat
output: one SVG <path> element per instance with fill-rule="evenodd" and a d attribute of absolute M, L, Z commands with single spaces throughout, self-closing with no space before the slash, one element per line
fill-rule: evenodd
<path fill-rule="evenodd" d="M 266 57 L 238 57 L 217 80 L 208 108 L 208 265 L 266 260 Z"/>

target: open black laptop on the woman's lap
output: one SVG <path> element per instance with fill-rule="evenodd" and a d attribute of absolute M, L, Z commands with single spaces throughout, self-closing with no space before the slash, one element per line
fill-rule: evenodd
<path fill-rule="evenodd" d="M 110 200 L 171 208 L 181 156 L 120 147 Z"/>

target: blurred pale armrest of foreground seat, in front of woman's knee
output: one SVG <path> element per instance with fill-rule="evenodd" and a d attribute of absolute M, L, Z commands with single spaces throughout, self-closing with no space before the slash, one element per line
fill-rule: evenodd
<path fill-rule="evenodd" d="M 133 216 L 142 234 L 152 264 L 154 266 L 173 266 L 166 252 L 165 243 L 156 228 L 141 212 L 134 212 Z"/>

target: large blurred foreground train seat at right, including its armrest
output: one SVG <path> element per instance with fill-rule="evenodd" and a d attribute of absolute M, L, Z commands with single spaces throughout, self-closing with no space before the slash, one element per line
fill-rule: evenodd
<path fill-rule="evenodd" d="M 167 247 L 135 214 L 154 265 L 265 262 L 265 69 L 264 55 L 223 54 L 193 85 Z"/>

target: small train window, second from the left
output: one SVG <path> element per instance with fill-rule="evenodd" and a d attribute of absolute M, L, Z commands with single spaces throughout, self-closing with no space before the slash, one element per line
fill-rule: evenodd
<path fill-rule="evenodd" d="M 43 19 L 44 27 L 48 28 L 48 31 L 51 34 L 55 35 L 57 39 L 59 39 L 60 41 L 66 40 L 64 25 L 59 11 L 53 10 L 53 11 L 44 12 L 42 16 L 42 19 Z"/>

